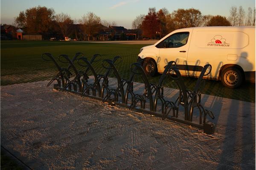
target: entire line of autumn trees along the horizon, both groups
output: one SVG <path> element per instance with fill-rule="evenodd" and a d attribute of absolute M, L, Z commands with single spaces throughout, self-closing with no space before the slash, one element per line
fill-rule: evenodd
<path fill-rule="evenodd" d="M 101 20 L 96 14 L 89 12 L 76 21 L 80 26 L 74 27 L 74 20 L 69 14 L 55 14 L 52 8 L 33 7 L 21 11 L 15 18 L 18 27 L 25 28 L 28 34 L 42 34 L 44 38 L 55 35 L 59 37 L 76 37 L 76 39 L 91 40 L 102 29 L 102 26 L 116 26 L 115 22 L 109 23 Z M 248 8 L 245 12 L 240 6 L 238 9 L 230 8 L 230 17 L 220 15 L 202 15 L 198 9 L 177 9 L 172 13 L 166 8 L 156 11 L 156 8 L 149 8 L 148 14 L 140 14 L 132 23 L 137 38 L 149 37 L 151 39 L 161 38 L 169 32 L 187 27 L 198 26 L 255 26 L 255 8 Z"/>

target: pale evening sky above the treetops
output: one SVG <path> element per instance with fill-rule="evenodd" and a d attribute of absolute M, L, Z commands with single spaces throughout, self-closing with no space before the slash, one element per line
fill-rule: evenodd
<path fill-rule="evenodd" d="M 116 26 L 130 29 L 132 21 L 140 14 L 147 14 L 148 8 L 158 11 L 167 8 L 171 13 L 178 8 L 199 9 L 203 15 L 222 15 L 228 17 L 232 6 L 254 9 L 255 0 L 1 0 L 1 24 L 12 24 L 20 11 L 35 6 L 53 8 L 55 14 L 70 14 L 73 20 L 79 20 L 84 14 L 93 12 L 108 22 L 115 21 Z"/>

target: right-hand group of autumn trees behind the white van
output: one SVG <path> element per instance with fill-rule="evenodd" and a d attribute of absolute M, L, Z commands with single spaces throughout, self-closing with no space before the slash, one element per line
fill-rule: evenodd
<path fill-rule="evenodd" d="M 166 8 L 156 11 L 149 8 L 148 14 L 140 14 L 132 23 L 137 34 L 144 37 L 161 38 L 171 31 L 179 28 L 198 27 L 198 26 L 255 26 L 254 11 L 248 8 L 247 13 L 240 6 L 230 8 L 230 17 L 220 15 L 202 15 L 198 9 L 177 9 L 172 13 Z"/>

